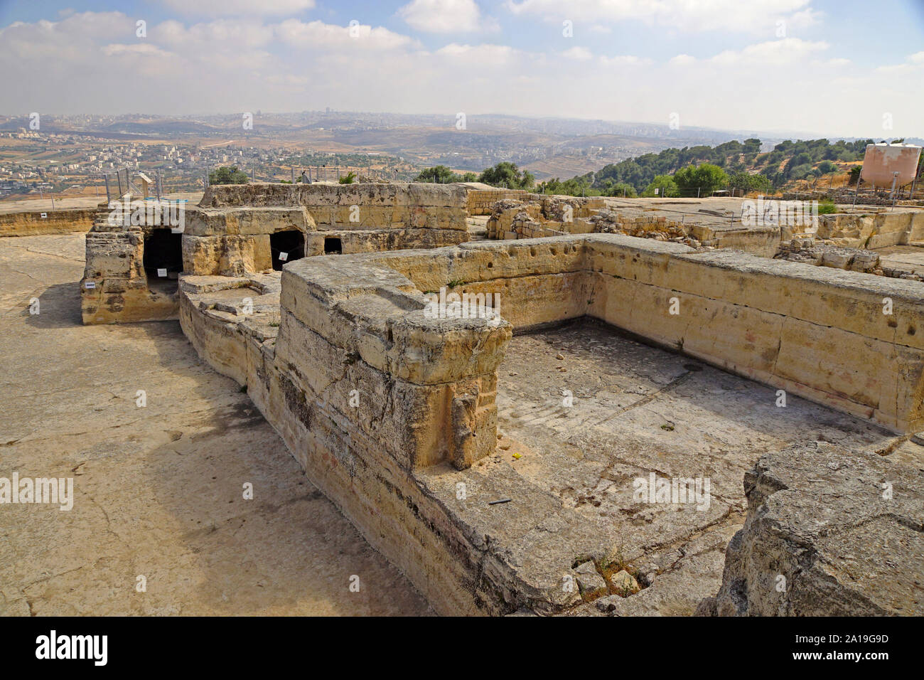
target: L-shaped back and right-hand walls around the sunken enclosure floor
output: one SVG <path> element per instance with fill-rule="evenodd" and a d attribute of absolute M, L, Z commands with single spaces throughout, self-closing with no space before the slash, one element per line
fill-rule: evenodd
<path fill-rule="evenodd" d="M 501 315 L 515 328 L 592 315 L 885 427 L 924 426 L 917 282 L 616 234 L 467 243 L 444 253 L 371 261 L 421 291 L 453 282 L 459 293 L 500 294 Z M 889 304 L 892 314 L 883 314 Z"/>

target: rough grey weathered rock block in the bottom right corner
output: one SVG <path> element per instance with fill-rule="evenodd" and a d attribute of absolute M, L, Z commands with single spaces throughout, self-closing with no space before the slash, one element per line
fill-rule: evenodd
<path fill-rule="evenodd" d="M 748 519 L 722 587 L 698 613 L 920 616 L 921 463 L 824 441 L 761 457 L 745 476 Z"/>

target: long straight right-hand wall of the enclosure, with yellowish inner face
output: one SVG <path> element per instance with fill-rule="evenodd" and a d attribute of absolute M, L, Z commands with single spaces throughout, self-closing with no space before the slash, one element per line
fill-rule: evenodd
<path fill-rule="evenodd" d="M 924 425 L 917 282 L 599 238 L 587 245 L 591 315 L 897 431 Z"/>

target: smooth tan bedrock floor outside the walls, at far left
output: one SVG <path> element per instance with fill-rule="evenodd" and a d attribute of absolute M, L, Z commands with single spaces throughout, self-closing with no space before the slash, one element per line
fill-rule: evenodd
<path fill-rule="evenodd" d="M 0 505 L 0 613 L 431 613 L 177 322 L 80 325 L 83 249 L 0 239 L 0 476 L 76 497 Z"/>

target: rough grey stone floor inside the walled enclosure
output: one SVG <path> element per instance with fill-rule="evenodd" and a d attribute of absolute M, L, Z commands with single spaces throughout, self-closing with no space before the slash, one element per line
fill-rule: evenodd
<path fill-rule="evenodd" d="M 489 464 L 495 472 L 487 474 L 512 468 L 557 499 L 560 516 L 577 514 L 579 524 L 608 537 L 606 560 L 626 564 L 650 586 L 572 613 L 692 613 L 720 585 L 725 547 L 744 522 L 743 477 L 763 453 L 806 440 L 880 449 L 896 439 L 794 396 L 777 406 L 775 389 L 592 321 L 516 336 L 498 376 L 502 438 Z M 894 455 L 922 466 L 921 447 L 900 448 Z M 633 481 L 652 472 L 708 477 L 709 507 L 634 501 Z M 561 557 L 557 565 L 552 554 L 536 559 L 560 569 Z"/>

